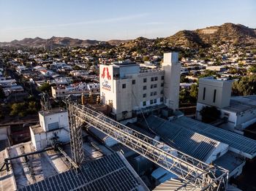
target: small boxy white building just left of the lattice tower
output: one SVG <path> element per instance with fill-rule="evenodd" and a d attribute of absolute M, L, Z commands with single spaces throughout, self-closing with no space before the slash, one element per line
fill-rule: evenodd
<path fill-rule="evenodd" d="M 36 150 L 52 146 L 56 139 L 62 143 L 69 141 L 69 121 L 64 109 L 40 111 L 39 125 L 30 127 L 31 141 Z"/>

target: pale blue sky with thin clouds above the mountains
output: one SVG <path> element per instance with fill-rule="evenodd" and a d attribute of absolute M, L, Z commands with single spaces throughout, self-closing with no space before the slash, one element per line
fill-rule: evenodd
<path fill-rule="evenodd" d="M 166 37 L 235 23 L 256 28 L 255 0 L 0 0 L 0 42 Z"/>

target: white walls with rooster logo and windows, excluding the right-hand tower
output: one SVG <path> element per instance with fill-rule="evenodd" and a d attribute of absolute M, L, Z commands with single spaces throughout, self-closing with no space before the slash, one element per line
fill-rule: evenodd
<path fill-rule="evenodd" d="M 101 74 L 103 73 L 103 69 L 105 67 L 108 67 L 111 79 L 102 77 Z M 162 76 L 164 76 L 164 71 L 148 71 L 145 73 L 137 73 L 137 66 L 135 66 L 135 74 L 130 74 L 129 77 L 117 77 L 113 79 L 113 75 L 111 73 L 113 69 L 111 69 L 111 67 L 113 66 L 99 66 L 100 95 L 102 98 L 102 104 L 109 104 L 110 101 L 112 101 L 112 111 L 114 114 L 116 114 L 116 120 L 124 120 L 132 117 L 132 110 L 138 110 L 147 106 L 162 104 L 162 85 L 164 83 Z M 131 71 L 132 69 L 129 71 L 129 73 Z M 154 78 L 154 81 L 151 81 L 151 77 Z M 156 77 L 157 79 L 155 80 Z M 146 79 L 146 82 L 143 81 L 144 79 Z M 125 88 L 123 88 L 123 85 L 125 85 Z M 157 87 L 151 88 L 151 85 L 156 85 Z M 146 86 L 146 90 L 143 90 L 143 86 Z M 146 93 L 145 98 L 143 97 L 144 93 Z M 151 93 L 155 94 L 151 95 Z M 151 100 L 153 101 L 152 104 Z M 154 103 L 154 100 L 157 102 Z M 146 106 L 143 106 L 143 101 L 146 101 Z M 123 112 L 127 112 L 127 114 L 124 116 Z"/>

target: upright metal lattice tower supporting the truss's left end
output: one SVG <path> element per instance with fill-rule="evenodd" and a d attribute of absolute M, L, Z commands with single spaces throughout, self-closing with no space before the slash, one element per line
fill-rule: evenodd
<path fill-rule="evenodd" d="M 69 133 L 72 160 L 77 165 L 80 165 L 84 160 L 82 136 L 83 121 L 75 115 L 77 109 L 72 106 L 71 102 L 67 103 L 67 108 L 69 114 Z"/>

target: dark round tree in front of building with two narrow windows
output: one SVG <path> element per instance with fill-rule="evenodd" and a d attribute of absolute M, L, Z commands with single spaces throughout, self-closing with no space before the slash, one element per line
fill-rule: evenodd
<path fill-rule="evenodd" d="M 202 122 L 214 122 L 219 119 L 221 112 L 215 106 L 204 106 L 200 110 L 200 115 L 202 116 Z"/>

